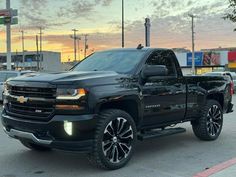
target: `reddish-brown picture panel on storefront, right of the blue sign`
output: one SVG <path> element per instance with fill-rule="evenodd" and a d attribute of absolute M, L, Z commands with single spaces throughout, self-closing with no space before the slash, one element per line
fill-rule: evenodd
<path fill-rule="evenodd" d="M 219 52 L 204 52 L 203 66 L 217 66 L 220 65 Z"/>

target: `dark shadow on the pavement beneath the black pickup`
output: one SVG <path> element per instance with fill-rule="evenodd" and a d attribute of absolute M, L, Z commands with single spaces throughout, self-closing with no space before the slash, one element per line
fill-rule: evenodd
<path fill-rule="evenodd" d="M 181 152 L 184 152 L 186 148 L 196 148 L 196 146 L 202 146 L 202 144 L 204 142 L 198 141 L 189 131 L 185 134 L 138 142 L 131 162 L 119 171 L 126 172 L 130 167 L 137 169 L 149 160 L 151 163 L 153 158 L 158 163 L 158 161 L 162 161 L 176 153 L 183 156 Z M 188 154 L 185 154 L 185 156 L 188 156 Z M 189 154 L 189 156 L 194 158 L 194 153 Z M 59 174 L 56 176 L 67 176 L 67 174 L 78 176 L 79 172 L 80 176 L 104 177 L 113 176 L 117 173 L 117 171 L 104 171 L 91 166 L 84 154 L 62 151 L 33 152 L 24 147 L 15 153 L 10 153 L 7 156 L 7 164 L 12 169 L 18 168 L 19 171 L 27 171 L 29 176 L 33 174 L 39 176 L 43 176 L 43 174 L 49 176 L 53 174 Z"/>

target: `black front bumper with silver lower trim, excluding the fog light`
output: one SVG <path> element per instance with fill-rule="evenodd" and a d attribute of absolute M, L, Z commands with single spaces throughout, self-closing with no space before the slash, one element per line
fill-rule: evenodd
<path fill-rule="evenodd" d="M 64 121 L 73 124 L 73 134 L 64 130 Z M 21 120 L 2 113 L 4 131 L 10 137 L 66 151 L 90 152 L 93 146 L 96 115 L 55 115 L 49 122 Z"/>

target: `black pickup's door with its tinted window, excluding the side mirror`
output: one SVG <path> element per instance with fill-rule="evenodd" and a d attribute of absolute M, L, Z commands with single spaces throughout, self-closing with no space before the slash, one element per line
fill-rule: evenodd
<path fill-rule="evenodd" d="M 146 65 L 166 66 L 168 74 L 147 78 L 142 87 L 144 126 L 156 126 L 184 119 L 186 84 L 182 74 L 178 75 L 176 61 L 172 51 L 161 50 L 153 52 L 146 61 Z"/>

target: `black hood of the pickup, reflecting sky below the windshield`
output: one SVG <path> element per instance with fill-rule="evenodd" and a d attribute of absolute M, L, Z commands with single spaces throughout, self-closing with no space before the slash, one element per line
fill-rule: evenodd
<path fill-rule="evenodd" d="M 91 72 L 60 72 L 60 73 L 32 73 L 11 79 L 10 82 L 46 82 L 56 85 L 75 85 L 83 83 L 85 85 L 93 84 L 111 84 L 117 82 L 117 79 L 124 77 L 113 71 L 91 71 Z"/>

